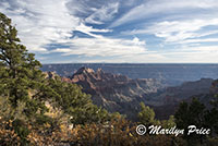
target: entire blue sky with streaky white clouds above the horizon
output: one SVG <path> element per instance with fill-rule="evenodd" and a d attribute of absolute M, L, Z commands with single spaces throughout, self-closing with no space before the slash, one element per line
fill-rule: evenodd
<path fill-rule="evenodd" d="M 218 63 L 217 0 L 0 0 L 43 63 Z"/>

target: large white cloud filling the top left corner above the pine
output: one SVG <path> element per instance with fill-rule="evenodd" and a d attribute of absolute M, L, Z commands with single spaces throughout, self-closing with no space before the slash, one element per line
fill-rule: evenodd
<path fill-rule="evenodd" d="M 1 11 L 12 19 L 19 36 L 31 51 L 46 52 L 44 46 L 71 36 L 80 19 L 69 14 L 68 0 L 17 0 L 16 8 L 5 4 Z M 10 8 L 10 9 L 7 9 Z"/>

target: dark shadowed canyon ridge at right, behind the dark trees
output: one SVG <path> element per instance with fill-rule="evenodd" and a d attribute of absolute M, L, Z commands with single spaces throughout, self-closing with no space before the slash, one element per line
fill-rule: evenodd
<path fill-rule="evenodd" d="M 217 90 L 211 85 L 211 78 L 202 78 L 195 82 L 185 82 L 180 86 L 167 87 L 156 94 L 145 96 L 144 102 L 154 108 L 158 119 L 166 119 L 170 114 L 174 114 L 181 101 L 192 101 L 192 98 L 198 98 L 206 107 L 210 107 L 209 101 L 214 94 L 211 90 Z"/>

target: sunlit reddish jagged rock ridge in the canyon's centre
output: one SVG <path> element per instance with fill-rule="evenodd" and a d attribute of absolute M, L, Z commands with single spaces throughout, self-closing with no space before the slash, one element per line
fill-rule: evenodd
<path fill-rule="evenodd" d="M 146 94 L 164 88 L 159 81 L 153 78 L 131 80 L 124 75 L 106 73 L 101 69 L 95 72 L 88 68 L 80 69 L 63 81 L 81 85 L 83 92 L 92 95 L 94 104 L 129 118 L 135 118 Z"/>

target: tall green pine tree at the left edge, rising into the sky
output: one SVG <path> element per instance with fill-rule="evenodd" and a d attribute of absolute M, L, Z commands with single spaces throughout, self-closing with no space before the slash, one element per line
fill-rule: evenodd
<path fill-rule="evenodd" d="M 9 98 L 14 110 L 19 102 L 24 104 L 23 112 L 32 117 L 45 112 L 44 99 L 55 92 L 46 86 L 40 62 L 21 44 L 11 23 L 0 13 L 0 94 Z"/>

